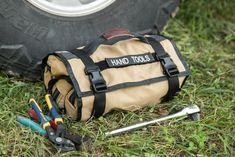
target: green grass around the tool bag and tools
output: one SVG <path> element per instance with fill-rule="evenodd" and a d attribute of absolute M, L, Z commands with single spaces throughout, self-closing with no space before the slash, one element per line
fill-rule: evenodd
<path fill-rule="evenodd" d="M 164 35 L 178 45 L 192 75 L 171 102 L 137 112 L 113 112 L 89 123 L 69 122 L 70 130 L 93 138 L 88 150 L 58 154 L 48 140 L 17 126 L 31 97 L 43 102 L 42 83 L 0 75 L 0 156 L 235 156 L 235 1 L 187 0 Z M 150 126 L 104 138 L 103 132 L 159 117 L 195 103 L 201 121 Z M 161 108 L 161 110 L 159 109 Z"/>

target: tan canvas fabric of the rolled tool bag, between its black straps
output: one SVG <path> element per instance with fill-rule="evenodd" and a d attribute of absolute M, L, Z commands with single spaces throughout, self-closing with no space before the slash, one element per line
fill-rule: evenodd
<path fill-rule="evenodd" d="M 179 50 L 167 38 L 162 36 L 153 36 L 153 38 L 161 44 L 176 65 L 179 72 L 177 76 L 179 89 L 181 89 L 189 76 L 189 69 Z M 107 58 L 115 61 L 115 58 L 120 59 L 120 57 L 126 56 L 131 58 L 134 55 L 138 59 L 138 55 L 154 53 L 155 50 L 150 44 L 144 43 L 138 38 L 131 38 L 112 44 L 101 44 L 92 54 L 89 54 L 89 57 L 94 63 L 98 63 L 106 61 Z M 67 56 L 67 58 L 61 57 L 62 55 Z M 149 59 L 148 57 L 146 58 Z M 139 61 L 143 61 L 143 57 L 140 57 Z M 68 67 L 70 67 L 70 70 L 68 70 Z M 94 109 L 95 92 L 91 88 L 89 76 L 84 71 L 85 67 L 83 61 L 69 51 L 53 53 L 45 61 L 43 75 L 45 87 L 48 89 L 49 82 L 52 79 L 56 79 L 50 92 L 58 103 L 59 108 L 65 110 L 66 114 L 74 120 L 86 121 L 90 119 Z M 135 111 L 148 105 L 157 105 L 169 90 L 168 79 L 160 61 L 106 68 L 100 73 L 107 87 L 110 87 L 110 90 L 105 92 L 103 115 L 112 110 Z M 64 76 L 64 78 L 60 79 L 61 76 Z M 77 82 L 80 91 L 76 91 L 74 82 L 71 79 Z M 153 81 L 154 79 L 156 79 L 155 82 Z M 112 89 L 112 87 L 117 88 Z M 78 112 L 80 112 L 79 119 Z"/>

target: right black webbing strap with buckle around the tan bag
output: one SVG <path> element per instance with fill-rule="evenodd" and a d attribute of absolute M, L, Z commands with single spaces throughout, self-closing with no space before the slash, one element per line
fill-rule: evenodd
<path fill-rule="evenodd" d="M 164 73 L 168 78 L 168 92 L 163 97 L 162 101 L 171 100 L 174 95 L 180 90 L 178 79 L 179 71 L 170 56 L 165 52 L 160 42 L 152 37 L 148 37 L 147 39 L 149 41 L 149 44 L 153 47 L 154 51 L 156 52 L 156 57 L 161 62 Z"/>

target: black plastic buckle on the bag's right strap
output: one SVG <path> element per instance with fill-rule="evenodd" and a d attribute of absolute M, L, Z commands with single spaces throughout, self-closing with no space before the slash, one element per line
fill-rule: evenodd
<path fill-rule="evenodd" d="M 160 59 L 160 62 L 164 68 L 164 72 L 169 77 L 176 77 L 179 75 L 179 71 L 177 69 L 177 66 L 173 63 L 170 57 L 165 57 Z"/>

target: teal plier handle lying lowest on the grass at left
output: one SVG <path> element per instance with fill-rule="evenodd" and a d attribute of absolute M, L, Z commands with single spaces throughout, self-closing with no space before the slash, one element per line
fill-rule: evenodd
<path fill-rule="evenodd" d="M 39 135 L 42 135 L 42 136 L 46 136 L 46 130 L 43 129 L 41 127 L 41 125 L 39 125 L 38 123 L 35 123 L 34 121 L 32 121 L 31 119 L 29 118 L 26 118 L 22 115 L 17 115 L 16 116 L 16 121 L 25 126 L 25 127 L 29 127 L 33 132 L 36 132 L 38 133 Z"/>

